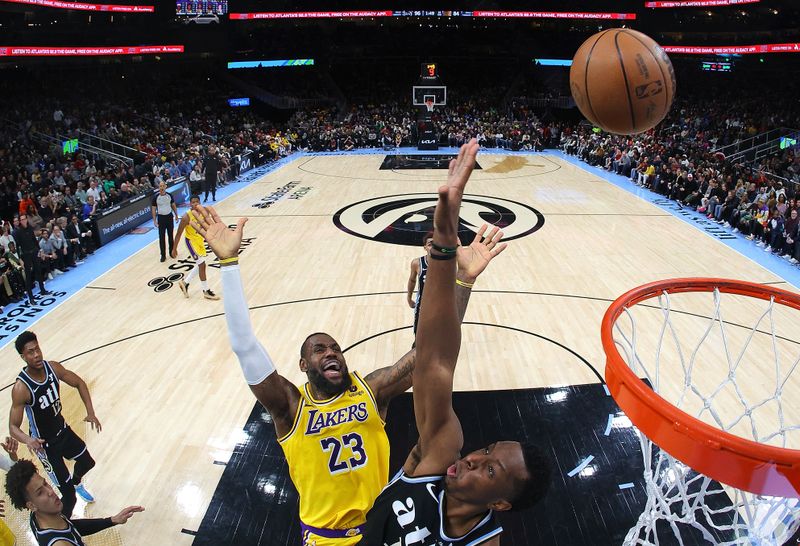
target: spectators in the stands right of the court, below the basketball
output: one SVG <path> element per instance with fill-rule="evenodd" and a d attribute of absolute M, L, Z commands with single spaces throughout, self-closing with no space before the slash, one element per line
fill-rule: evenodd
<path fill-rule="evenodd" d="M 747 103 L 681 101 L 655 131 L 634 137 L 567 129 L 561 148 L 590 165 L 629 177 L 688 207 L 766 252 L 800 263 L 800 155 L 787 148 L 756 165 L 730 161 L 719 146 L 781 126 L 800 125 L 791 107 L 783 118 Z"/>

